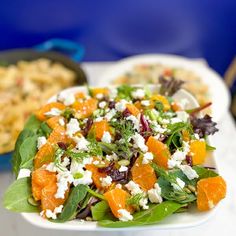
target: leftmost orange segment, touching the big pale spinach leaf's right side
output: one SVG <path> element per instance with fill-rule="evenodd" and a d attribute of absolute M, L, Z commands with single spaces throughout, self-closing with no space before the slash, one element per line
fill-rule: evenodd
<path fill-rule="evenodd" d="M 32 193 L 36 201 L 41 199 L 42 189 L 57 181 L 56 174 L 45 169 L 37 169 L 32 172 Z"/>

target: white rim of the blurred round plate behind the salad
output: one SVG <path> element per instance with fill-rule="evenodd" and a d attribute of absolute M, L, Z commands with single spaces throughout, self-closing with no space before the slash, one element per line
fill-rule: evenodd
<path fill-rule="evenodd" d="M 212 116 L 219 121 L 228 111 L 230 95 L 222 77 L 198 60 L 188 59 L 175 55 L 144 54 L 128 57 L 110 66 L 99 78 L 99 85 L 112 84 L 112 81 L 124 73 L 131 71 L 134 65 L 161 63 L 171 67 L 188 69 L 200 76 L 209 87 L 209 96 L 212 101 Z"/>

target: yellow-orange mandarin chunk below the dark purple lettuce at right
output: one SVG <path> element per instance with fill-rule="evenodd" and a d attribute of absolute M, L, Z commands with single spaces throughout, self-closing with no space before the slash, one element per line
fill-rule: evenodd
<path fill-rule="evenodd" d="M 204 140 L 193 140 L 190 143 L 189 155 L 192 156 L 193 165 L 203 164 L 206 154 L 206 142 Z"/>

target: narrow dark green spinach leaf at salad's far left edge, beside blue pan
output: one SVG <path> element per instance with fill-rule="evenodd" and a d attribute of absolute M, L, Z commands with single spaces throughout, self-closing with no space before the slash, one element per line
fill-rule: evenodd
<path fill-rule="evenodd" d="M 15 144 L 13 158 L 12 158 L 12 168 L 16 176 L 18 175 L 18 172 L 20 170 L 20 165 L 21 165 L 20 147 L 25 139 L 32 136 L 34 136 L 34 132 L 27 129 L 23 130 L 18 136 L 18 139 Z"/>

